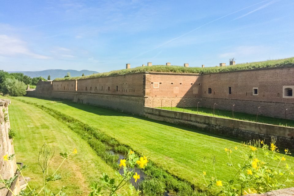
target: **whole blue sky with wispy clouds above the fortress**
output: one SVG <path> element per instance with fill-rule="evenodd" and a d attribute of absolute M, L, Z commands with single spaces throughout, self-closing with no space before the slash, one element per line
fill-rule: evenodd
<path fill-rule="evenodd" d="M 1 1 L 0 69 L 105 72 L 294 56 L 293 0 Z"/>

